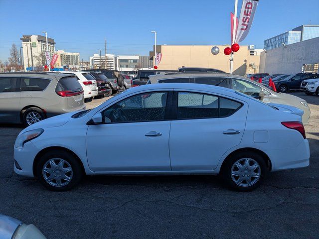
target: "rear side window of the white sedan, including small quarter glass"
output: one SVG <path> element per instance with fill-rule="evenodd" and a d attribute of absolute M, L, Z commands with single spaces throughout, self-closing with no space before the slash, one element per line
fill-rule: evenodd
<path fill-rule="evenodd" d="M 228 117 L 241 103 L 213 95 L 178 92 L 177 119 L 205 119 Z"/>

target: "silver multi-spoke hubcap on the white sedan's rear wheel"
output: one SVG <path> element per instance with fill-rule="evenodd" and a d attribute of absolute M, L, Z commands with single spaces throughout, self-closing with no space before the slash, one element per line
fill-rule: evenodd
<path fill-rule="evenodd" d="M 249 187 L 260 178 L 260 165 L 251 158 L 237 160 L 231 168 L 231 178 L 238 186 Z"/>

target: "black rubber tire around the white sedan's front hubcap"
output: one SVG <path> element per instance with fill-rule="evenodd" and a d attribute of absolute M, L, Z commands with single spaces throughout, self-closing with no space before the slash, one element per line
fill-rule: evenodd
<path fill-rule="evenodd" d="M 50 184 L 45 180 L 45 178 L 43 176 L 42 169 L 43 169 L 44 164 L 46 164 L 48 162 L 48 160 L 53 159 L 53 158 L 63 159 L 71 166 L 71 169 L 72 169 L 71 180 L 64 186 L 54 186 L 52 184 L 54 182 L 57 183 L 57 181 L 55 179 L 53 179 L 51 181 L 52 184 Z M 58 172 L 58 171 L 55 172 L 54 170 L 51 171 L 51 173 L 55 175 L 54 177 L 59 177 L 60 175 L 62 175 L 62 177 L 63 177 L 63 172 L 61 174 L 59 174 L 60 172 Z M 49 189 L 51 191 L 61 192 L 61 191 L 70 190 L 71 188 L 76 186 L 81 181 L 83 174 L 84 174 L 83 170 L 82 170 L 79 162 L 74 157 L 74 155 L 72 155 L 71 153 L 69 153 L 67 151 L 63 151 L 63 150 L 52 150 L 52 151 L 46 152 L 44 155 L 41 156 L 41 158 L 39 159 L 39 161 L 36 165 L 36 175 L 37 175 L 38 180 L 42 183 L 42 185 L 44 187 L 46 187 L 47 189 Z M 46 174 L 46 175 L 49 175 L 49 174 Z M 64 182 L 64 180 L 62 182 Z"/>

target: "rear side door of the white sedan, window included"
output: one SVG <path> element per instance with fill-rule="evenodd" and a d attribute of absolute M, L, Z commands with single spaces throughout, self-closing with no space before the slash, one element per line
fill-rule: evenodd
<path fill-rule="evenodd" d="M 240 144 L 248 106 L 234 99 L 197 92 L 174 92 L 169 152 L 173 171 L 210 171 Z"/>

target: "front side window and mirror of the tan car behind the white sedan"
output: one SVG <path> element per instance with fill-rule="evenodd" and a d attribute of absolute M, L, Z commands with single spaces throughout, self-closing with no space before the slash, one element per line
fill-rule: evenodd
<path fill-rule="evenodd" d="M 261 91 L 265 93 L 265 90 L 263 90 L 262 87 L 259 85 L 253 83 L 252 81 L 246 81 L 243 79 L 231 79 L 231 88 L 235 91 L 244 93 L 248 96 L 254 97 L 255 99 L 260 99 L 259 94 Z M 264 98 L 262 99 L 263 102 L 269 103 L 269 93 L 265 93 Z"/>

